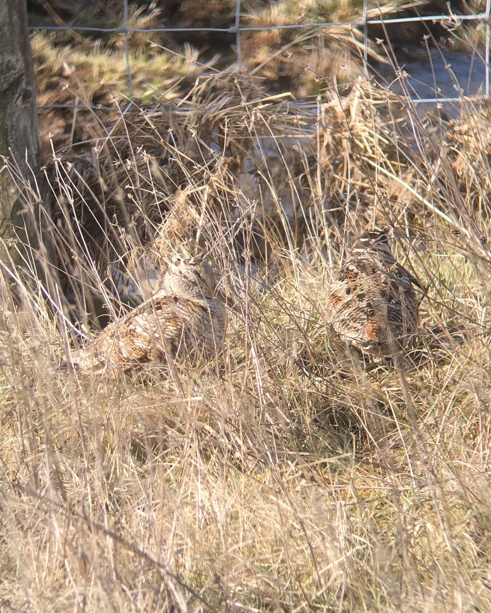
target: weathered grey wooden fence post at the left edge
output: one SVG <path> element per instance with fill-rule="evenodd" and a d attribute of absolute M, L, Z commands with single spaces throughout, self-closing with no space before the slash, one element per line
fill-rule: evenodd
<path fill-rule="evenodd" d="M 21 252 L 26 252 L 23 243 L 38 252 L 39 271 L 52 256 L 53 248 L 49 240 L 44 240 L 43 231 L 46 215 L 50 215 L 50 199 L 41 172 L 26 0 L 0 0 L 0 32 L 0 259 L 20 262 L 11 240 L 17 235 L 21 240 L 15 245 Z M 12 175 L 15 167 L 25 181 L 25 189 L 19 189 L 19 177 L 14 179 Z M 33 206 L 26 207 L 26 200 Z"/>

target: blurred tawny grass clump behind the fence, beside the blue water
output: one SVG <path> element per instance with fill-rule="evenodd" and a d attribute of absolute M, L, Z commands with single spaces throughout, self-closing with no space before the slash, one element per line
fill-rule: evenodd
<path fill-rule="evenodd" d="M 425 2 L 368 2 L 368 19 L 389 18 Z M 244 62 L 252 74 L 269 87 L 292 89 L 298 97 L 314 95 L 328 83 L 351 83 L 363 72 L 365 39 L 361 28 L 363 2 L 286 0 L 266 3 L 244 15 L 246 26 L 273 28 L 309 24 L 311 28 L 244 31 L 241 46 Z M 334 23 L 316 27 L 316 23 Z M 386 61 L 374 40 L 366 42 L 371 61 Z"/>

